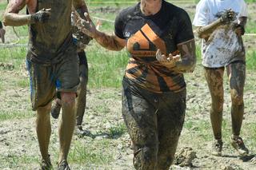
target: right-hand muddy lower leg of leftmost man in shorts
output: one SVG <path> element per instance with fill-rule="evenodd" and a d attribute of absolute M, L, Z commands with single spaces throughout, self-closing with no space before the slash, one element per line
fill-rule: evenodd
<path fill-rule="evenodd" d="M 58 135 L 60 154 L 58 162 L 67 159 L 75 126 L 75 93 L 61 93 L 62 117 L 59 122 Z"/>

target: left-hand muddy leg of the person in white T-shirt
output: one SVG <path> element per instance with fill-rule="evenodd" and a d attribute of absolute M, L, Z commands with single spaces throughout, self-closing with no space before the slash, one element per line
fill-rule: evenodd
<path fill-rule="evenodd" d="M 205 68 L 205 77 L 211 96 L 210 121 L 216 140 L 222 139 L 222 111 L 224 103 L 223 73 L 224 68 Z"/>

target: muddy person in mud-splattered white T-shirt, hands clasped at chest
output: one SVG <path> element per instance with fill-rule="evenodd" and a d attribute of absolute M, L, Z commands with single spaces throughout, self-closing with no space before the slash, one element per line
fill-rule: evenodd
<path fill-rule="evenodd" d="M 210 89 L 210 121 L 214 131 L 213 154 L 222 155 L 223 74 L 230 82 L 231 144 L 241 156 L 248 149 L 240 137 L 244 113 L 243 89 L 246 78 L 246 53 L 242 43 L 247 20 L 243 0 L 201 0 L 194 17 L 198 37 L 202 38 L 202 65 Z"/>

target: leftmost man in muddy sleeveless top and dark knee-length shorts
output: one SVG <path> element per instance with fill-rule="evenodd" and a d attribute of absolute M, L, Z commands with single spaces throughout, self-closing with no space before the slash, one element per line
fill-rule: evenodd
<path fill-rule="evenodd" d="M 25 6 L 27 14 L 18 14 Z M 30 73 L 32 109 L 37 111 L 36 131 L 42 169 L 51 167 L 48 153 L 50 109 L 56 90 L 63 110 L 58 128 L 58 169 L 69 169 L 66 160 L 74 131 L 75 97 L 79 84 L 78 56 L 71 33 L 72 6 L 78 13 L 87 11 L 82 0 L 10 0 L 4 14 L 3 23 L 6 26 L 29 25 L 26 61 Z"/>

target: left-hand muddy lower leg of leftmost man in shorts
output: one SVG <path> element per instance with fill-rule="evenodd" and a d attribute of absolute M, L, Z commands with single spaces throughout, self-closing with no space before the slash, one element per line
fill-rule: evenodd
<path fill-rule="evenodd" d="M 37 109 L 36 119 L 36 131 L 38 135 L 38 143 L 42 160 L 46 160 L 47 164 L 50 164 L 50 157 L 48 155 L 48 146 L 50 142 L 50 106 L 51 103 L 45 107 L 39 107 Z"/>

